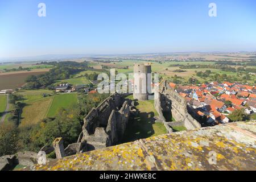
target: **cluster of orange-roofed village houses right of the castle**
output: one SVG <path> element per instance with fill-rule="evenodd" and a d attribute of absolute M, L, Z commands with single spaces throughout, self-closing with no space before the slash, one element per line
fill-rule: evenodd
<path fill-rule="evenodd" d="M 229 119 L 226 115 L 237 109 L 244 109 L 246 114 L 256 111 L 255 86 L 234 84 L 228 81 L 211 82 L 201 86 L 178 86 L 170 83 L 170 86 L 174 85 L 177 88 L 176 92 L 184 97 L 188 108 L 191 108 L 193 116 L 196 119 L 207 117 L 206 124 L 210 126 L 228 123 Z M 230 101 L 230 105 L 225 105 L 226 101 Z"/>

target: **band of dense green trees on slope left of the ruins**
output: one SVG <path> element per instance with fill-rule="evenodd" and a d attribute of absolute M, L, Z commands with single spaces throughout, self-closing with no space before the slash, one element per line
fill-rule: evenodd
<path fill-rule="evenodd" d="M 35 125 L 18 127 L 15 122 L 0 125 L 0 156 L 18 151 L 38 152 L 51 145 L 57 137 L 64 139 L 64 147 L 76 143 L 82 131 L 83 119 L 109 94 L 79 94 L 79 103 L 68 109 L 60 109 L 54 118 L 45 118 Z"/>

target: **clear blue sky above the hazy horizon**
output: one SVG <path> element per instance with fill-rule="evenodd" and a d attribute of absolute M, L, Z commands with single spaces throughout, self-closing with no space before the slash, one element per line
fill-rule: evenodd
<path fill-rule="evenodd" d="M 183 51 L 256 51 L 256 1 L 0 0 L 0 57 Z"/>

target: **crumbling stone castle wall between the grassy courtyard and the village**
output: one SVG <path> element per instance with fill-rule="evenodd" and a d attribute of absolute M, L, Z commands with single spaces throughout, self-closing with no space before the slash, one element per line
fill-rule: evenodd
<path fill-rule="evenodd" d="M 156 94 L 155 99 L 155 108 L 159 113 L 159 117 L 163 119 L 164 122 L 166 122 L 166 119 L 163 116 L 163 112 L 171 111 L 175 121 L 182 121 L 184 123 L 183 126 L 188 130 L 201 127 L 200 123 L 188 113 L 187 102 L 179 93 L 170 88 L 167 81 L 163 81 L 159 85 L 159 93 Z"/>

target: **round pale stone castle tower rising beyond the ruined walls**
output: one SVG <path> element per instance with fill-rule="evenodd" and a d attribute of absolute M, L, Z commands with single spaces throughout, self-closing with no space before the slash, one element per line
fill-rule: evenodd
<path fill-rule="evenodd" d="M 139 101 L 148 100 L 148 93 L 151 92 L 151 63 L 135 63 L 133 74 L 133 98 Z"/>

